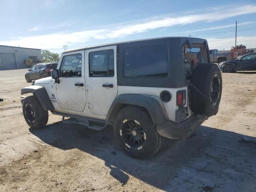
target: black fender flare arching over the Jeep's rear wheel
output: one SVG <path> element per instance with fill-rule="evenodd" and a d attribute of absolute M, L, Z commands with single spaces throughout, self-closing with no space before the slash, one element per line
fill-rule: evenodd
<path fill-rule="evenodd" d="M 143 94 L 122 94 L 117 96 L 112 102 L 106 116 L 106 121 L 114 121 L 116 114 L 124 105 L 134 105 L 146 108 L 154 124 L 162 124 L 167 120 L 167 116 L 164 114 L 164 109 L 153 96 Z"/>

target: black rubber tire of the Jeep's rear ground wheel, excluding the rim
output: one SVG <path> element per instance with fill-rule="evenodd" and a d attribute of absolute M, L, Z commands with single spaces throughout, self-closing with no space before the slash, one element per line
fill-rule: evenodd
<path fill-rule="evenodd" d="M 136 120 L 143 127 L 146 134 L 146 142 L 140 150 L 133 150 L 127 146 L 126 141 L 120 134 L 120 129 L 125 120 Z M 118 112 L 114 121 L 114 137 L 118 145 L 126 154 L 136 159 L 148 159 L 156 154 L 164 142 L 164 137 L 160 136 L 154 126 L 148 111 L 144 108 L 128 106 Z"/>

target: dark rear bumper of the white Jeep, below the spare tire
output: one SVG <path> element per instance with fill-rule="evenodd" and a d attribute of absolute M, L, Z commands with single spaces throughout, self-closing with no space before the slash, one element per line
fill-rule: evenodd
<path fill-rule="evenodd" d="M 194 130 L 198 128 L 205 120 L 207 116 L 193 115 L 182 123 L 173 123 L 166 121 L 163 124 L 156 125 L 158 134 L 170 139 L 187 138 L 192 135 Z"/>

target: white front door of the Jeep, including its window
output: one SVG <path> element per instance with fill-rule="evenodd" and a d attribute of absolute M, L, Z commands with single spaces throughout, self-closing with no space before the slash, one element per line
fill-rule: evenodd
<path fill-rule="evenodd" d="M 60 83 L 56 84 L 58 105 L 64 111 L 84 111 L 86 104 L 84 50 L 64 54 L 59 70 Z"/>

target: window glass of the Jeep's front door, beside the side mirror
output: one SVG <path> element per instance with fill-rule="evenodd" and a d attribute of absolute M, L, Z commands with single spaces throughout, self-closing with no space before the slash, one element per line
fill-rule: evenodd
<path fill-rule="evenodd" d="M 64 56 L 60 66 L 60 76 L 82 76 L 82 55 L 73 54 Z"/>

